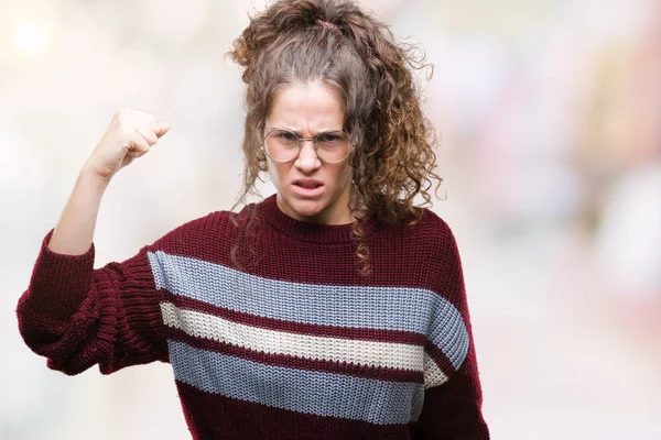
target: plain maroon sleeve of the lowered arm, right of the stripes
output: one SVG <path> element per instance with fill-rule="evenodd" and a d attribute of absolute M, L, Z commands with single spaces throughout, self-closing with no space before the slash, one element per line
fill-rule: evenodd
<path fill-rule="evenodd" d="M 456 241 L 444 224 L 442 292 L 457 307 L 468 337 L 468 351 L 462 365 L 447 382 L 425 391 L 422 414 L 414 425 L 415 440 L 488 440 L 489 430 L 481 414 L 481 386 L 477 367 L 470 314 Z"/>

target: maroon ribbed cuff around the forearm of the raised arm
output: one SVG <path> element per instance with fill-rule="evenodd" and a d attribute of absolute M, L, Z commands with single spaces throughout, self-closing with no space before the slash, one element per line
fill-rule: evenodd
<path fill-rule="evenodd" d="M 94 273 L 94 243 L 80 255 L 58 254 L 48 249 L 52 229 L 32 271 L 25 306 L 40 315 L 67 319 L 87 296 Z"/>

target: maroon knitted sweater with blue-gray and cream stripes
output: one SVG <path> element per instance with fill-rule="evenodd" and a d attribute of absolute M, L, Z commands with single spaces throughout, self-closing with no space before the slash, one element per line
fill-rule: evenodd
<path fill-rule="evenodd" d="M 94 268 L 43 240 L 17 314 L 25 343 L 68 375 L 169 362 L 194 439 L 488 439 L 448 226 L 297 221 L 275 196 L 246 238 L 212 212 Z"/>

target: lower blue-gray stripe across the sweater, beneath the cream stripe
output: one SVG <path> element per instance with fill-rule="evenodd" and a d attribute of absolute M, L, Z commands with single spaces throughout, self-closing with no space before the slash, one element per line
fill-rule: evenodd
<path fill-rule="evenodd" d="M 169 341 L 177 381 L 203 392 L 326 417 L 378 425 L 420 416 L 424 385 L 273 366 Z"/>

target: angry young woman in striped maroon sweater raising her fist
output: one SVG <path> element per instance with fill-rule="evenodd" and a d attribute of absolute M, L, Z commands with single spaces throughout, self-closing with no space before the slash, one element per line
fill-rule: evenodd
<path fill-rule="evenodd" d="M 20 330 L 48 366 L 169 362 L 195 439 L 488 439 L 412 53 L 346 1 L 251 19 L 242 197 L 94 270 L 101 196 L 169 124 L 119 110 L 44 238 Z"/>

